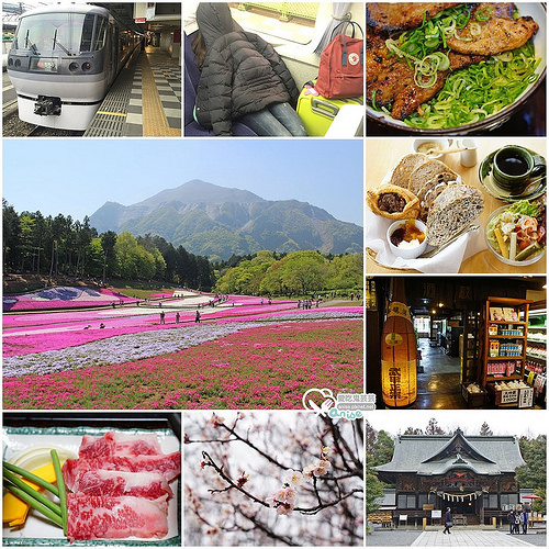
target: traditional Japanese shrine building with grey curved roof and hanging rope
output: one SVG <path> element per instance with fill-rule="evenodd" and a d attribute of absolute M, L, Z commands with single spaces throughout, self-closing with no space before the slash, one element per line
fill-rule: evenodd
<path fill-rule="evenodd" d="M 455 524 L 502 522 L 519 506 L 515 469 L 525 464 L 513 436 L 401 435 L 379 479 L 395 486 L 394 523 L 439 524 L 447 507 Z M 402 524 L 402 523 L 401 523 Z"/>

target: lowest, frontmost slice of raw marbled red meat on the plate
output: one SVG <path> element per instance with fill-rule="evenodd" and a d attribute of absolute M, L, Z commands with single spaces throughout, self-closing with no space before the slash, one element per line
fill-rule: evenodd
<path fill-rule="evenodd" d="M 67 537 L 80 539 L 163 538 L 167 504 L 139 497 L 67 494 Z"/>

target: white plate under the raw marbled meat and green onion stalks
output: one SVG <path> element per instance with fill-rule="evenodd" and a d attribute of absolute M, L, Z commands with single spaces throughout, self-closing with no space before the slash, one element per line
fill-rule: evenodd
<path fill-rule="evenodd" d="M 78 448 L 80 447 L 82 435 L 102 436 L 108 430 L 123 430 L 128 434 L 155 433 L 158 436 L 158 442 L 163 452 L 171 453 L 180 449 L 178 438 L 169 429 L 128 430 L 108 427 L 4 427 L 2 429 L 3 460 L 9 461 L 15 453 L 32 447 L 47 448 L 49 446 L 65 448 L 74 452 L 75 456 L 78 456 Z M 31 509 L 22 528 L 2 528 L 3 546 L 180 546 L 181 531 L 179 520 L 180 502 L 178 479 L 170 482 L 170 488 L 175 495 L 168 502 L 168 534 L 163 539 L 149 540 L 131 537 L 126 539 L 102 539 L 69 544 L 59 527 L 53 525 L 40 513 Z"/>

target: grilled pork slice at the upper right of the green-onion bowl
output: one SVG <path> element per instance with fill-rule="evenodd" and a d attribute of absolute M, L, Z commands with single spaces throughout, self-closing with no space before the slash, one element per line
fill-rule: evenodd
<path fill-rule="evenodd" d="M 513 3 L 477 4 L 469 23 L 458 33 L 466 40 L 453 36 L 446 41 L 447 44 L 455 52 L 469 55 L 495 55 L 524 46 L 538 32 L 539 25 L 529 16 L 513 19 L 514 9 Z M 489 19 L 478 21 L 477 14 Z"/>

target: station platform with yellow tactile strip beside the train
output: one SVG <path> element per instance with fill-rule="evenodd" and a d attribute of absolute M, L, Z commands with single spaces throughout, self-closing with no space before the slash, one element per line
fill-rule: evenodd
<path fill-rule="evenodd" d="M 181 66 L 159 47 L 134 53 L 85 137 L 181 136 Z"/>

